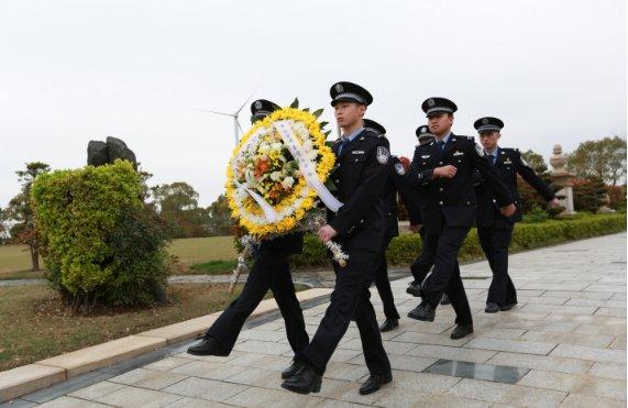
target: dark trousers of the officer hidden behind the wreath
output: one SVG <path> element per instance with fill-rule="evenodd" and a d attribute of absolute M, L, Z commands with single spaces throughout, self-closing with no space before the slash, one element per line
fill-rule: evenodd
<path fill-rule="evenodd" d="M 288 253 L 262 247 L 253 262 L 249 278 L 238 299 L 218 317 L 206 337 L 216 339 L 224 349 L 233 350 L 244 321 L 264 299 L 268 288 L 273 291 L 286 323 L 286 334 L 295 355 L 308 345 L 304 313 L 295 294 L 290 276 Z"/>

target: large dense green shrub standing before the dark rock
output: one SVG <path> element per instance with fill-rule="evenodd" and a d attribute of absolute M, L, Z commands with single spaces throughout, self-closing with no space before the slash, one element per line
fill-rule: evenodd
<path fill-rule="evenodd" d="M 130 162 L 56 170 L 33 184 L 46 278 L 74 309 L 147 304 L 168 275 L 165 224 Z"/>

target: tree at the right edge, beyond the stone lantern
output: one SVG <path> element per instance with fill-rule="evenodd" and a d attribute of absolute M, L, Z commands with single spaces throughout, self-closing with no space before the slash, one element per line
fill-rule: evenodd
<path fill-rule="evenodd" d="M 582 142 L 569 155 L 568 168 L 577 177 L 597 177 L 616 186 L 626 175 L 626 140 L 614 136 Z"/>

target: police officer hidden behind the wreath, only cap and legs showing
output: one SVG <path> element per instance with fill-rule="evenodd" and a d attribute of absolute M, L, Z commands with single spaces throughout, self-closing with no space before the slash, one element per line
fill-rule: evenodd
<path fill-rule="evenodd" d="M 280 109 L 277 104 L 260 99 L 251 104 L 252 121 L 258 121 Z M 286 323 L 286 334 L 295 356 L 309 343 L 304 313 L 295 295 L 288 256 L 301 253 L 301 232 L 288 233 L 274 240 L 262 241 L 255 251 L 253 266 L 238 299 L 218 317 L 202 341 L 188 349 L 189 354 L 225 356 L 231 353 L 244 321 L 260 305 L 268 288 L 273 291 Z M 300 367 L 298 359 L 282 373 L 287 378 Z"/>

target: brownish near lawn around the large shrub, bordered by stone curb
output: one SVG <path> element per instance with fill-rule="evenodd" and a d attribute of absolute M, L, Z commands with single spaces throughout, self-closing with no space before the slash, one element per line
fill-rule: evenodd
<path fill-rule="evenodd" d="M 0 371 L 222 310 L 242 290 L 239 285 L 229 294 L 228 286 L 169 285 L 168 305 L 100 309 L 87 317 L 73 315 L 46 285 L 0 288 Z"/>

